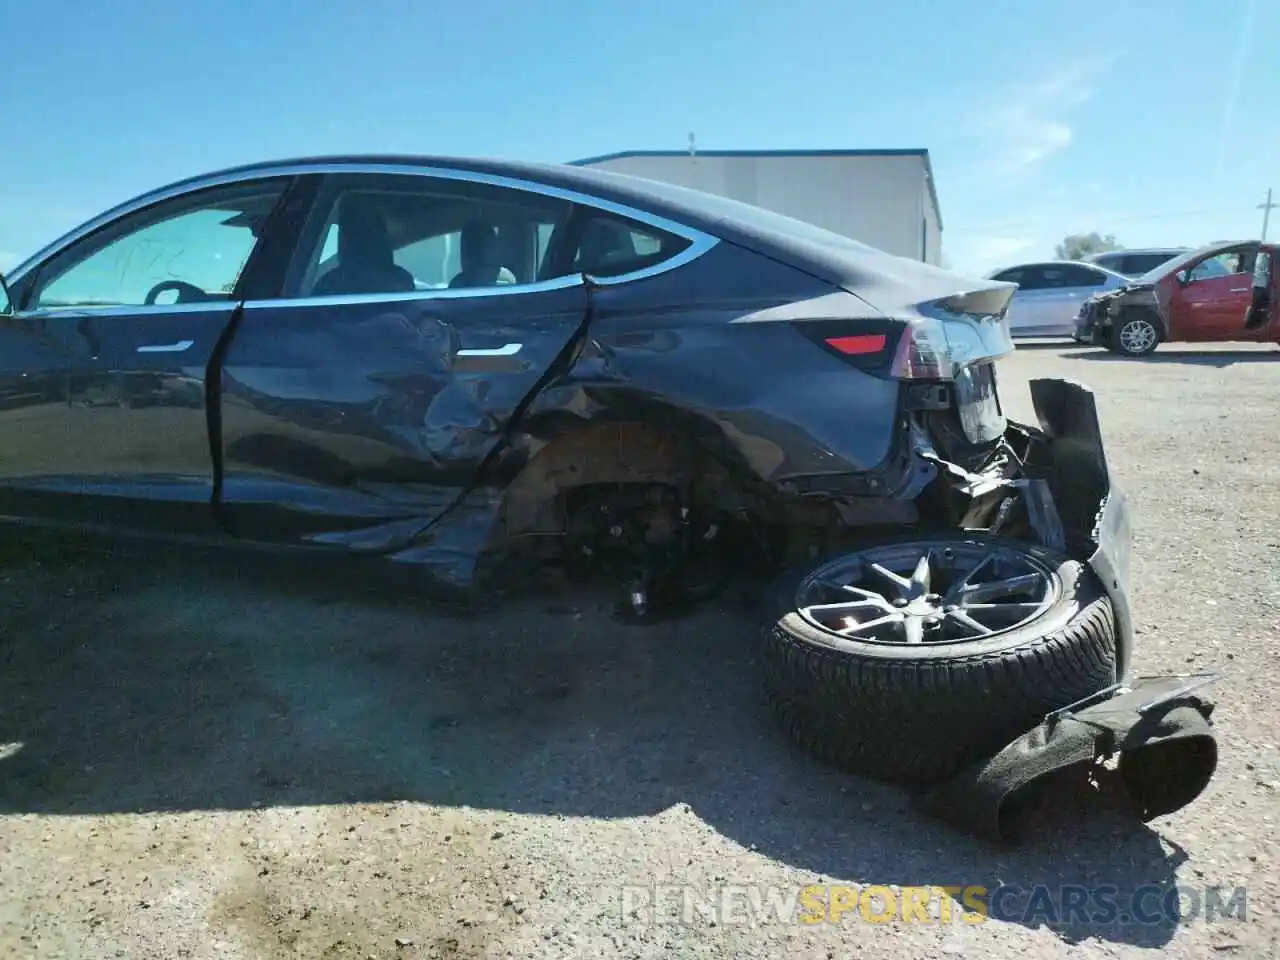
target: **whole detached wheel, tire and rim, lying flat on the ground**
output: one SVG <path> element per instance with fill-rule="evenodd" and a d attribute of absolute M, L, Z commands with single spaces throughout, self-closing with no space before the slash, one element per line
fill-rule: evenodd
<path fill-rule="evenodd" d="M 867 547 L 783 577 L 764 627 L 786 732 L 850 773 L 928 785 L 1115 682 L 1084 564 L 995 538 Z"/>

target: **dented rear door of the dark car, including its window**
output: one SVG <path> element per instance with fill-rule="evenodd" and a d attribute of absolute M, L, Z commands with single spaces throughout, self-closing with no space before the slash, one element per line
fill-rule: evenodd
<path fill-rule="evenodd" d="M 328 178 L 282 298 L 246 303 L 223 362 L 228 527 L 387 552 L 453 507 L 585 329 L 575 210 L 465 178 Z"/>

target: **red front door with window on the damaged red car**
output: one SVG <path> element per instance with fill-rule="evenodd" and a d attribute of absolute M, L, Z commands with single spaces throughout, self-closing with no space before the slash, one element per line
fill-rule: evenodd
<path fill-rule="evenodd" d="M 1252 297 L 1257 243 L 1220 250 L 1188 264 L 1161 284 L 1169 339 L 1187 342 L 1245 339 L 1243 317 Z"/>

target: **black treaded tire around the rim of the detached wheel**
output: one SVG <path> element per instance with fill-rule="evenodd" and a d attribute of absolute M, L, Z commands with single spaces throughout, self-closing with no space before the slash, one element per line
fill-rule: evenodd
<path fill-rule="evenodd" d="M 1057 599 L 992 637 L 905 646 L 854 640 L 803 617 L 796 593 L 813 566 L 771 591 L 765 687 L 782 728 L 810 754 L 849 773 L 927 786 L 1115 682 L 1111 600 L 1088 567 L 1027 544 L 954 539 L 1037 557 L 1055 571 Z"/>

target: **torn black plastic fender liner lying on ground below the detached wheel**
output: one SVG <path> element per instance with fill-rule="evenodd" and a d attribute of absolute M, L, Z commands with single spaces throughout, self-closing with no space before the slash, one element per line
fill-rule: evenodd
<path fill-rule="evenodd" d="M 1149 820 L 1203 792 L 1217 768 L 1213 704 L 1192 692 L 1204 677 L 1142 677 L 1051 713 L 987 760 L 918 796 L 918 805 L 969 833 L 1020 838 L 1018 799 L 1044 778 L 1119 755 L 1116 782 L 1133 812 Z"/>

